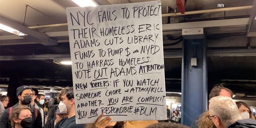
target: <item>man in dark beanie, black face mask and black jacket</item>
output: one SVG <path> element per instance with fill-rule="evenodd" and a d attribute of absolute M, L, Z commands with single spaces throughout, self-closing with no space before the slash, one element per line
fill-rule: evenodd
<path fill-rule="evenodd" d="M 32 118 L 25 119 L 24 121 L 20 120 L 21 118 L 17 119 L 20 124 L 22 125 L 23 122 L 30 121 L 31 124 L 29 128 L 42 128 L 42 116 L 40 114 L 40 110 L 37 108 L 34 108 L 33 106 L 30 106 L 31 102 L 31 96 L 32 96 L 32 89 L 29 86 L 20 86 L 16 89 L 17 98 L 19 99 L 19 102 L 15 104 L 14 106 L 7 108 L 4 110 L 2 116 L 0 117 L 0 128 L 11 128 L 10 126 L 10 112 L 14 110 L 18 106 L 27 106 L 30 108 L 30 112 L 32 114 Z M 27 123 L 25 123 L 27 124 Z M 28 124 L 27 124 L 28 125 Z"/>

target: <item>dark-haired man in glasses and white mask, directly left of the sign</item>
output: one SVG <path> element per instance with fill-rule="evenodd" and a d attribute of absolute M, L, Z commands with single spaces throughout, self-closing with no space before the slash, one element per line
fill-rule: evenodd
<path fill-rule="evenodd" d="M 76 111 L 73 87 L 63 88 L 60 92 L 60 112 L 67 112 L 68 117 L 58 121 L 54 128 L 85 128 L 85 124 L 76 124 Z"/>

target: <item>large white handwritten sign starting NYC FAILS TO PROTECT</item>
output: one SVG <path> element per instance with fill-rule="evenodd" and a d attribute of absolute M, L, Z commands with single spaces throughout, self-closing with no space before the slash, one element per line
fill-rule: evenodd
<path fill-rule="evenodd" d="M 67 8 L 76 123 L 166 120 L 161 2 Z"/>

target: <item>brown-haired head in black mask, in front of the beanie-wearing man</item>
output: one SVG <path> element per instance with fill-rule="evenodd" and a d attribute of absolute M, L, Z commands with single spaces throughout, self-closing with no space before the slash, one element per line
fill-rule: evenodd
<path fill-rule="evenodd" d="M 11 114 L 11 124 L 14 128 L 30 128 L 32 114 L 28 106 L 18 106 Z"/>

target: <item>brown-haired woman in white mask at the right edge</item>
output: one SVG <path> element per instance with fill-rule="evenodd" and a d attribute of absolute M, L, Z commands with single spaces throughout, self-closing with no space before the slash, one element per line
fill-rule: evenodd
<path fill-rule="evenodd" d="M 239 111 L 242 119 L 252 118 L 255 120 L 255 118 L 252 114 L 252 111 L 250 110 L 249 106 L 245 102 L 238 101 L 238 102 L 236 102 L 236 105 L 237 105 L 238 111 Z"/>

